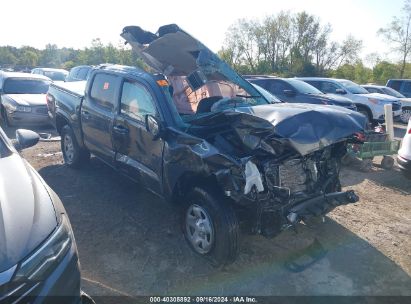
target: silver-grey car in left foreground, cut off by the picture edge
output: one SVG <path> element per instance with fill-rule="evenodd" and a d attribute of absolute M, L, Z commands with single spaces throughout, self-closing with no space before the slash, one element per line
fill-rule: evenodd
<path fill-rule="evenodd" d="M 77 247 L 63 204 L 15 148 L 33 146 L 39 136 L 17 130 L 16 138 L 12 142 L 0 128 L 0 302 L 90 300 L 80 289 Z"/>

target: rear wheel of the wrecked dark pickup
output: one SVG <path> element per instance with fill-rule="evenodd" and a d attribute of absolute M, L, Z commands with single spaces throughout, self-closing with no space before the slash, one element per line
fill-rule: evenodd
<path fill-rule="evenodd" d="M 90 160 L 90 152 L 80 148 L 69 125 L 61 129 L 61 151 L 64 162 L 72 168 L 80 168 Z"/>

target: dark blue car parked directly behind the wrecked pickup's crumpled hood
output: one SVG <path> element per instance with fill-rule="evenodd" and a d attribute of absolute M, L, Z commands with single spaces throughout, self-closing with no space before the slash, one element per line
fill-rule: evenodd
<path fill-rule="evenodd" d="M 244 76 L 244 78 L 269 91 L 283 102 L 336 105 L 353 111 L 357 110 L 351 100 L 342 96 L 327 96 L 298 79 L 255 75 Z"/>

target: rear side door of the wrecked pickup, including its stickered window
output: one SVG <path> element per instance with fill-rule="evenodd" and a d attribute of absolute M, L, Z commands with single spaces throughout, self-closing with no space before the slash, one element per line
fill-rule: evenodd
<path fill-rule="evenodd" d="M 121 78 L 104 71 L 94 74 L 81 106 L 84 144 L 91 153 L 113 163 L 111 139 L 115 105 L 118 104 Z"/>

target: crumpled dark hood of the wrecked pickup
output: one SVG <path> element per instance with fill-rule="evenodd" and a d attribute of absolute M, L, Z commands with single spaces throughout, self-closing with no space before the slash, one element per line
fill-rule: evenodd
<path fill-rule="evenodd" d="M 190 123 L 232 128 L 251 150 L 262 147 L 262 141 L 274 139 L 307 155 L 363 132 L 365 117 L 339 106 L 288 103 L 228 109 Z"/>

